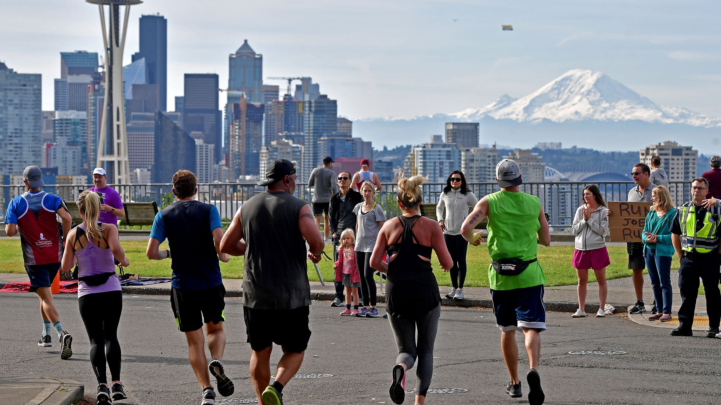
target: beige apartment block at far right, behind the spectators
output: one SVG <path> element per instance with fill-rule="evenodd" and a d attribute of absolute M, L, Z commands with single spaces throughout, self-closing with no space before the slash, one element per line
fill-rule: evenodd
<path fill-rule="evenodd" d="M 699 151 L 692 146 L 681 146 L 677 142 L 665 141 L 649 145 L 639 151 L 641 163 L 651 166 L 651 158 L 661 158 L 661 167 L 668 174 L 670 182 L 690 182 L 696 177 L 696 160 Z"/>

